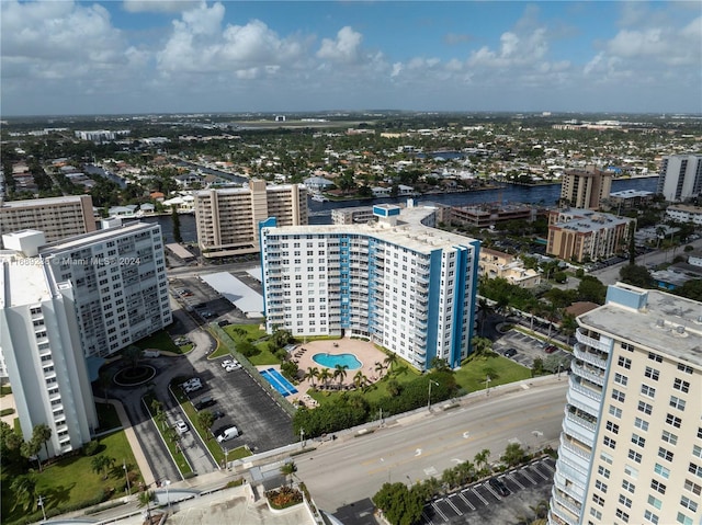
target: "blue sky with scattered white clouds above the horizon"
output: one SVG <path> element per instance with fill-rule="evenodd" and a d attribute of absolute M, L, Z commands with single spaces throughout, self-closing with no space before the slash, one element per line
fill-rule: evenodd
<path fill-rule="evenodd" d="M 0 115 L 702 112 L 702 2 L 0 0 Z"/>

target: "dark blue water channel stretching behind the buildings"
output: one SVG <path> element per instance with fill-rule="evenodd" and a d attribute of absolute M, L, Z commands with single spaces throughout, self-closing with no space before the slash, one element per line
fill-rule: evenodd
<path fill-rule="evenodd" d="M 655 192 L 658 179 L 656 176 L 642 179 L 620 179 L 612 181 L 612 191 L 621 192 L 623 190 L 637 190 L 645 192 Z M 518 186 L 507 185 L 501 190 L 485 190 L 479 192 L 462 192 L 462 193 L 440 193 L 432 195 L 421 195 L 415 197 L 416 204 L 439 203 L 448 206 L 465 206 L 468 204 L 482 203 L 528 203 L 543 204 L 553 206 L 561 196 L 561 184 L 550 184 L 543 186 Z M 335 208 L 347 208 L 355 206 L 371 206 L 372 204 L 394 204 L 406 203 L 407 197 L 386 197 L 373 199 L 358 199 L 318 203 L 308 201 L 309 206 L 309 224 L 310 225 L 330 225 L 331 210 Z M 161 225 L 161 231 L 166 238 L 166 242 L 173 242 L 173 221 L 170 215 L 161 215 L 157 217 L 144 217 L 140 220 L 145 222 L 157 222 Z M 197 231 L 195 228 L 194 215 L 180 216 L 180 232 L 183 242 L 197 242 Z"/>

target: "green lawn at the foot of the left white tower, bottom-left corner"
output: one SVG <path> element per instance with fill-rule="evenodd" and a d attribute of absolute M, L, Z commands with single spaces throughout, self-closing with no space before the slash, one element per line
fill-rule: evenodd
<path fill-rule="evenodd" d="M 47 515 L 57 515 L 69 510 L 81 509 L 100 501 L 125 495 L 126 478 L 123 464 L 129 471 L 138 473 L 136 460 L 127 442 L 124 431 L 118 431 L 100 440 L 101 450 L 98 455 L 105 455 L 115 460 L 107 471 L 107 479 L 102 473 L 91 469 L 92 457 L 82 455 L 67 457 L 44 469 L 36 475 L 36 493 L 44 498 Z M 2 469 L 2 523 L 21 524 L 42 518 L 39 509 L 25 513 L 20 506 L 12 511 L 13 495 L 10 492 L 12 479 L 20 472 L 9 468 Z M 140 477 L 138 477 L 140 480 Z M 132 487 L 137 482 L 133 479 Z M 106 495 L 105 495 L 106 494 Z M 38 511 L 38 512 L 36 512 Z"/>

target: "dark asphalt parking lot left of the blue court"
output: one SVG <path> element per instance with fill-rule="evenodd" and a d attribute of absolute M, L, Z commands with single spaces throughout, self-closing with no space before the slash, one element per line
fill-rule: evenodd
<path fill-rule="evenodd" d="M 215 402 L 204 410 L 224 412 L 212 427 L 213 435 L 218 435 L 228 426 L 237 426 L 239 436 L 223 444 L 228 449 L 247 444 L 253 452 L 263 452 L 292 443 L 294 436 L 287 412 L 246 369 L 226 372 L 220 366 L 225 358 L 229 357 L 203 359 L 205 367 L 199 367 L 197 374 L 203 387 L 189 393 L 193 403 L 212 397 Z"/>

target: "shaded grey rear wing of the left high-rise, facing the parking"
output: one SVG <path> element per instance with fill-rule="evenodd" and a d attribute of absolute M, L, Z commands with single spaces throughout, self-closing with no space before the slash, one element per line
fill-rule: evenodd
<path fill-rule="evenodd" d="M 136 222 L 39 249 L 47 278 L 75 289 L 86 357 L 105 357 L 172 322 L 161 228 Z"/>

